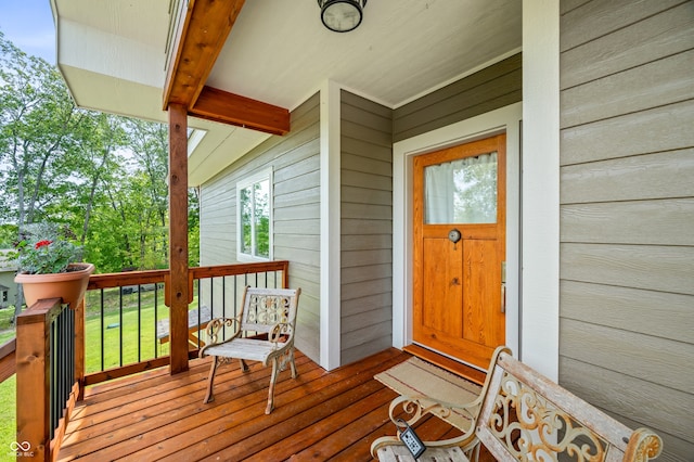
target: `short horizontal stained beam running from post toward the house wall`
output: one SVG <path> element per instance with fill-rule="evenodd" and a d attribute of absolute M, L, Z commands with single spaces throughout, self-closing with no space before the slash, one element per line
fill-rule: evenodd
<path fill-rule="evenodd" d="M 290 131 L 290 111 L 205 86 L 189 114 L 272 134 Z"/>

